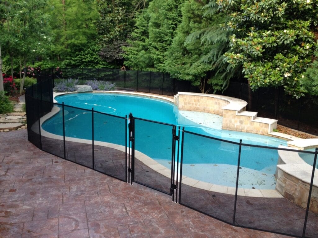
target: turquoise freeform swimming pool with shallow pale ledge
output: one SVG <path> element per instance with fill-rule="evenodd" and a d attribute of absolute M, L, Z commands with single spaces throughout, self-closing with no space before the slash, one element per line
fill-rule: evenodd
<path fill-rule="evenodd" d="M 55 100 L 59 103 L 64 102 L 65 105 L 87 109 L 81 110 L 65 106 L 65 133 L 69 137 L 92 139 L 92 131 L 89 129 L 92 115 L 89 110 L 93 107 L 95 111 L 115 116 L 125 116 L 132 112 L 134 117 L 184 126 L 188 131 L 228 141 L 239 142 L 242 139 L 246 144 L 272 147 L 286 145 L 286 141 L 269 136 L 221 130 L 219 125 L 214 128 L 204 127 L 188 120 L 173 103 L 164 100 L 108 93 L 67 94 L 57 96 Z M 60 111 L 45 121 L 42 128 L 50 133 L 63 135 L 62 127 L 59 126 L 62 123 L 61 118 L 62 112 Z M 120 140 L 123 132 L 116 131 L 115 120 L 110 117 L 105 120 L 102 114 L 94 113 L 94 127 L 98 127 L 94 139 L 123 145 L 123 141 Z M 171 128 L 144 121 L 138 121 L 135 124 L 138 128 L 138 130 L 136 129 L 135 149 L 169 168 L 171 166 Z M 107 133 L 110 130 L 111 132 Z M 211 140 L 204 137 L 191 137 L 188 135 L 185 137 L 186 156 L 183 157 L 184 165 L 188 165 L 190 168 L 188 171 L 191 175 L 189 176 L 197 176 L 200 181 L 233 186 L 232 183 L 229 184 L 229 180 L 224 179 L 226 176 L 224 172 L 227 171 L 229 175 L 232 175 L 233 169 L 236 170 L 238 146 L 216 140 L 211 143 Z M 190 147 L 191 149 L 189 149 Z M 211 156 L 212 154 L 213 156 Z M 242 177 L 241 188 L 275 188 L 273 175 L 278 160 L 276 150 L 266 150 L 265 153 L 265 150 L 246 146 L 242 147 L 241 157 L 241 167 L 242 171 L 245 171 L 246 179 L 251 174 L 259 179 L 259 182 L 256 183 L 255 179 L 252 179 L 254 182 L 251 184 Z M 197 173 L 197 175 L 193 173 Z"/>

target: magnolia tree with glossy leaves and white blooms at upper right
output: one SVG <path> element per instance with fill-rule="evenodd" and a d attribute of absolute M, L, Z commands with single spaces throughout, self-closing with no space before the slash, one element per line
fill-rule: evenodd
<path fill-rule="evenodd" d="M 299 98 L 306 90 L 300 80 L 316 46 L 318 1 L 217 0 L 231 17 L 227 62 L 240 65 L 251 89 L 283 86 Z"/>

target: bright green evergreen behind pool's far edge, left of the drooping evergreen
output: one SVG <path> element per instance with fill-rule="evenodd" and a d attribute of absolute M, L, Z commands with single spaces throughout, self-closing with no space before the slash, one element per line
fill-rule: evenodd
<path fill-rule="evenodd" d="M 166 51 L 181 23 L 184 0 L 153 0 L 138 16 L 132 40 L 125 51 L 125 64 L 134 69 L 165 71 Z"/>

